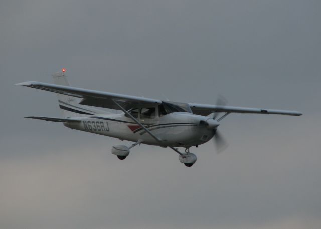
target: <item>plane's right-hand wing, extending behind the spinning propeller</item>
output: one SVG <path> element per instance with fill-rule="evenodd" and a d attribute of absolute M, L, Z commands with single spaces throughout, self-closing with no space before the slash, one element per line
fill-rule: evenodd
<path fill-rule="evenodd" d="M 212 112 L 227 112 L 227 113 L 250 113 L 250 114 L 280 114 L 280 115 L 302 115 L 298 111 L 286 111 L 286 110 L 271 110 L 271 109 L 260 109 L 260 108 L 249 108 L 249 107 L 231 107 L 231 106 L 219 106 L 219 105 L 207 105 L 189 103 L 193 114 L 207 116 Z"/>

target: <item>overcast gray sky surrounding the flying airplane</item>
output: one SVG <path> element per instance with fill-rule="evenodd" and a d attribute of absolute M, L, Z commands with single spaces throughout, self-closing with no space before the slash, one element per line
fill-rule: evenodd
<path fill-rule="evenodd" d="M 0 227 L 321 228 L 321 2 L 0 2 Z M 119 140 L 28 115 L 59 116 L 52 82 L 303 112 L 228 116 L 187 168 L 152 146 L 118 160 Z M 125 142 L 126 143 L 126 142 Z M 128 142 L 127 142 L 128 143 Z"/>

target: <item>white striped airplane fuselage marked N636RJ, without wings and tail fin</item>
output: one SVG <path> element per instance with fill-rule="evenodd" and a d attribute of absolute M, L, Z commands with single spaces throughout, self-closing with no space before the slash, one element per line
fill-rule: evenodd
<path fill-rule="evenodd" d="M 188 112 L 174 112 L 161 117 L 139 119 L 149 131 L 161 139 L 156 141 L 130 117 L 122 114 L 90 115 L 77 118 L 80 122 L 65 122 L 64 125 L 81 131 L 105 135 L 143 144 L 173 147 L 191 147 L 209 141 L 215 131 L 200 125 L 209 117 Z"/>

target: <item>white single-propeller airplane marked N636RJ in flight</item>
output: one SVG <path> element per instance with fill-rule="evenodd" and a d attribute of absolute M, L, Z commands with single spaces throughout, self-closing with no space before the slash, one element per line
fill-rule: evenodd
<path fill-rule="evenodd" d="M 226 106 L 222 99 L 216 105 L 207 105 L 76 88 L 69 85 L 65 72 L 63 68 L 52 74 L 55 84 L 36 81 L 16 84 L 57 93 L 63 116 L 25 118 L 62 122 L 71 129 L 134 142 L 130 146 L 112 147 L 112 154 L 120 160 L 124 160 L 134 146 L 147 144 L 171 148 L 179 154 L 181 163 L 191 167 L 197 160 L 190 152 L 191 147 L 198 147 L 213 138 L 218 150 L 226 148 L 226 141 L 217 128 L 219 122 L 231 113 L 302 115 L 297 111 Z M 112 113 L 94 107 L 122 112 Z M 178 147 L 185 148 L 184 152 Z"/>

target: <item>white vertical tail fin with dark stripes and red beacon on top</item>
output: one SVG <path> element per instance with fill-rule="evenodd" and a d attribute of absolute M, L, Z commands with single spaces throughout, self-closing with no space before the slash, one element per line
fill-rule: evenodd
<path fill-rule="evenodd" d="M 55 84 L 69 86 L 69 82 L 65 75 L 65 69 L 62 69 L 61 72 L 53 73 L 52 77 L 54 78 Z M 57 95 L 58 95 L 59 108 L 64 118 L 106 113 L 104 111 L 99 111 L 97 109 L 80 105 L 79 98 L 63 95 L 63 94 L 57 94 Z"/>

